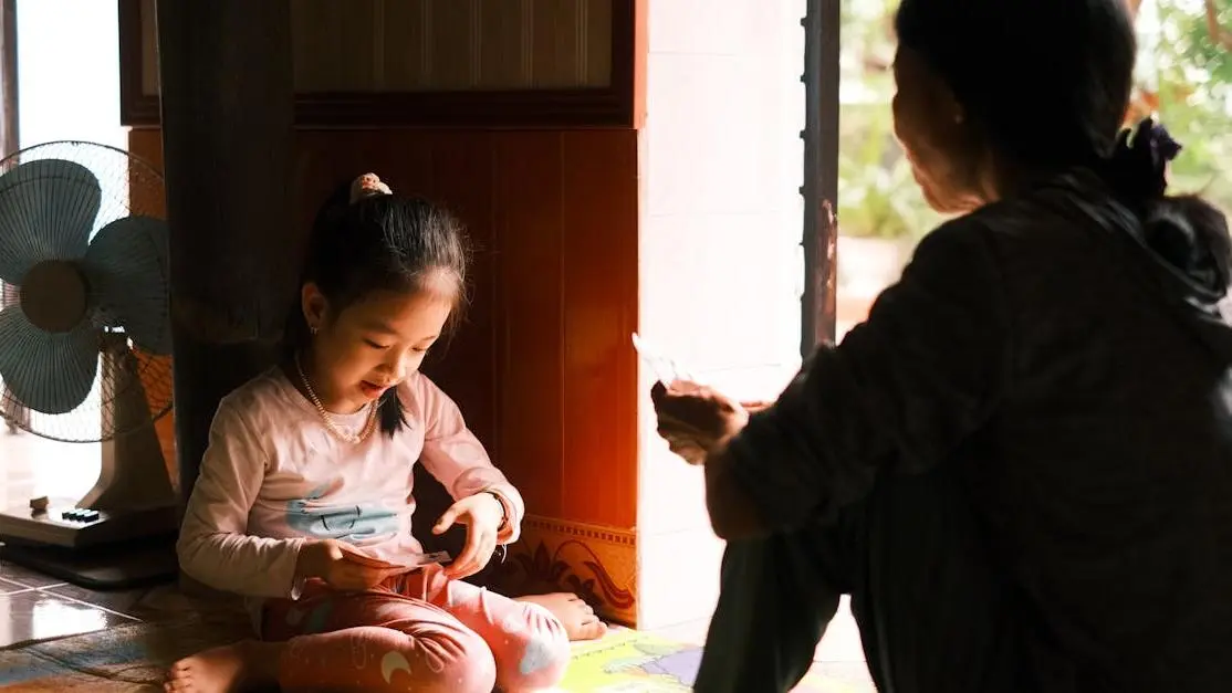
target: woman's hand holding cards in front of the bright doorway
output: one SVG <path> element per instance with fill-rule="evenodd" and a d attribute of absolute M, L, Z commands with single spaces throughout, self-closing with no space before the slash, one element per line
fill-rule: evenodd
<path fill-rule="evenodd" d="M 749 421 L 749 411 L 743 405 L 697 383 L 655 383 L 650 399 L 659 416 L 659 436 L 668 441 L 671 452 L 690 464 L 703 464 Z M 752 406 L 760 410 L 766 404 Z"/>

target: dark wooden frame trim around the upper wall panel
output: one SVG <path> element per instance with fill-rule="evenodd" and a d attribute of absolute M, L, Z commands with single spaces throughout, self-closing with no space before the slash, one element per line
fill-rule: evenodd
<path fill-rule="evenodd" d="M 142 2 L 120 2 L 120 118 L 156 127 L 159 97 L 142 87 Z M 643 121 L 646 0 L 612 0 L 611 81 L 602 89 L 338 92 L 296 96 L 306 128 L 636 128 Z M 638 69 L 642 65 L 642 69 Z"/>

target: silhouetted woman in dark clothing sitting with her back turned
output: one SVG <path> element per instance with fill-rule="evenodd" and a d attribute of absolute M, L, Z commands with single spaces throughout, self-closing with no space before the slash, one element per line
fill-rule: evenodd
<path fill-rule="evenodd" d="M 768 409 L 653 394 L 728 539 L 700 693 L 788 691 L 839 596 L 893 693 L 1232 691 L 1223 217 L 1117 140 L 1121 0 L 904 0 L 896 130 L 938 209 Z"/>

